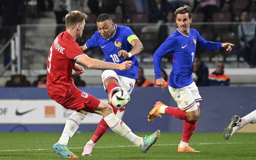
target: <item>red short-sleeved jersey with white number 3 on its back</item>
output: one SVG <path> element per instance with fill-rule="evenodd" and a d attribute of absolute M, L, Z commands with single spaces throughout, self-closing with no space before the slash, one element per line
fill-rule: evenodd
<path fill-rule="evenodd" d="M 66 96 L 76 87 L 71 75 L 75 60 L 86 55 L 67 31 L 60 33 L 51 45 L 47 61 L 47 91 L 52 95 Z"/>

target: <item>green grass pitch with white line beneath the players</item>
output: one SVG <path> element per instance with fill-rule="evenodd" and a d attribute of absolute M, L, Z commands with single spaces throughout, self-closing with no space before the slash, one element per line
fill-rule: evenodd
<path fill-rule="evenodd" d="M 142 153 L 128 140 L 106 133 L 95 145 L 92 156 L 81 156 L 85 143 L 93 133 L 76 133 L 68 147 L 79 159 L 90 160 L 255 160 L 256 134 L 236 133 L 224 140 L 222 133 L 194 133 L 190 146 L 201 153 L 178 153 L 181 133 L 161 133 L 148 153 Z M 150 133 L 146 133 L 150 135 Z M 0 160 L 58 160 L 64 159 L 51 149 L 61 133 L 0 133 Z M 137 133 L 145 136 L 145 133 Z"/>

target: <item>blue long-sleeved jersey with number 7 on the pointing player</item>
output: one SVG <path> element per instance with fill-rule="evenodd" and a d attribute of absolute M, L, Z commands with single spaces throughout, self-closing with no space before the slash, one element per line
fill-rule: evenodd
<path fill-rule="evenodd" d="M 193 82 L 193 64 L 196 56 L 196 45 L 207 50 L 221 49 L 219 42 L 210 42 L 201 37 L 196 29 L 190 29 L 189 35 L 185 35 L 176 29 L 168 36 L 153 55 L 155 77 L 162 78 L 161 58 L 167 54 L 172 57 L 172 71 L 169 76 L 169 85 L 173 88 L 181 88 Z"/>

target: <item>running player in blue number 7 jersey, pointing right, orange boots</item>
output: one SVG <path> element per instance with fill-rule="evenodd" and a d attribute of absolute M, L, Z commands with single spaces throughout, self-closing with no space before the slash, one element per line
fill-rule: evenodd
<path fill-rule="evenodd" d="M 210 42 L 203 39 L 196 29 L 190 29 L 192 13 L 188 5 L 176 9 L 174 12 L 177 29 L 166 38 L 165 42 L 153 55 L 156 84 L 167 84 L 161 74 L 161 58 L 167 54 L 172 56 L 172 71 L 169 76 L 168 89 L 177 102 L 178 107 L 169 107 L 161 102 L 156 102 L 148 115 L 152 122 L 155 116 L 167 114 L 185 120 L 183 135 L 178 145 L 178 152 L 198 152 L 188 145 L 190 137 L 196 129 L 197 119 L 200 115 L 199 102 L 202 100 L 195 82 L 192 79 L 193 64 L 196 55 L 196 45 L 203 49 L 216 50 L 225 48 L 231 51 L 234 44 Z"/>

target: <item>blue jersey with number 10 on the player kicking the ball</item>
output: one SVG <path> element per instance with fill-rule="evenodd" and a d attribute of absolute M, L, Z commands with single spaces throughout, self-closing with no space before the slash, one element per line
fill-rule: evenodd
<path fill-rule="evenodd" d="M 110 38 L 104 39 L 98 31 L 95 31 L 91 39 L 86 41 L 86 47 L 88 49 L 94 49 L 95 47 L 101 48 L 105 54 L 105 62 L 121 64 L 126 60 L 131 60 L 133 65 L 128 71 L 114 71 L 119 76 L 137 79 L 139 68 L 137 57 L 132 56 L 131 58 L 126 58 L 124 60 L 124 58 L 119 57 L 117 54 L 120 50 L 125 50 L 127 52 L 132 50 L 132 45 L 128 42 L 128 37 L 131 35 L 135 34 L 129 27 L 114 24 L 114 32 Z"/>

